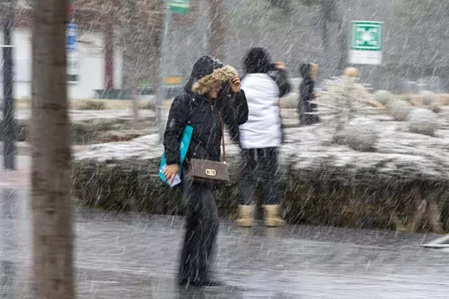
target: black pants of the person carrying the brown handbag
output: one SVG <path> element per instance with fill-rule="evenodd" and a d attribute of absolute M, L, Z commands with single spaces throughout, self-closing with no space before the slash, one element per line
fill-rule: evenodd
<path fill-rule="evenodd" d="M 186 232 L 180 257 L 179 281 L 203 281 L 208 277 L 219 219 L 212 185 L 182 182 L 186 206 Z"/>

